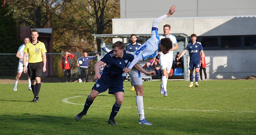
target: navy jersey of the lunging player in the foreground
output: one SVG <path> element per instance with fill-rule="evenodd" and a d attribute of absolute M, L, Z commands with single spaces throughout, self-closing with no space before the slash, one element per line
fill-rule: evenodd
<path fill-rule="evenodd" d="M 129 51 L 124 50 L 124 56 L 122 58 L 116 58 L 113 50 L 111 50 L 100 60 L 106 63 L 102 72 L 122 75 L 124 73 L 123 69 L 126 68 L 127 64 L 132 62 L 133 59 L 134 57 Z"/>

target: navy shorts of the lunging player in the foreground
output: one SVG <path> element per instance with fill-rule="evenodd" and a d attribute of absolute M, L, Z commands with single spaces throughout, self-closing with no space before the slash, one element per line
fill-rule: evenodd
<path fill-rule="evenodd" d="M 108 94 L 124 92 L 123 76 L 122 74 L 111 75 L 103 72 L 100 79 L 96 80 L 92 89 L 95 89 L 99 93 L 105 92 L 108 89 Z"/>

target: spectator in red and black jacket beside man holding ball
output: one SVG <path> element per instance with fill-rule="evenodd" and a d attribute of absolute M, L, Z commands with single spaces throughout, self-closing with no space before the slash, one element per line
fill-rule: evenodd
<path fill-rule="evenodd" d="M 73 54 L 69 52 L 65 52 L 65 55 L 62 57 L 60 67 L 64 70 L 64 78 L 66 82 L 72 82 L 72 58 L 74 57 Z"/>

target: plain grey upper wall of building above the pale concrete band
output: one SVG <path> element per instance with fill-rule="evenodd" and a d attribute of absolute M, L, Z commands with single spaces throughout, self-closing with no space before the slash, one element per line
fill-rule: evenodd
<path fill-rule="evenodd" d="M 176 5 L 174 17 L 255 15 L 255 0 L 120 0 L 121 18 L 156 18 Z"/>

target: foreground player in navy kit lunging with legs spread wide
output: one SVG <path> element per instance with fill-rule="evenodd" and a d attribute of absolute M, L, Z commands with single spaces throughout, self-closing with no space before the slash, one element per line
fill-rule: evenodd
<path fill-rule="evenodd" d="M 105 92 L 108 89 L 108 94 L 114 94 L 116 98 L 116 102 L 112 107 L 112 111 L 108 119 L 108 124 L 117 125 L 114 118 L 121 108 L 124 98 L 124 84 L 122 77 L 122 74 L 124 73 L 123 69 L 127 67 L 129 62 L 132 62 L 134 56 L 131 52 L 124 50 L 124 43 L 121 41 L 115 42 L 112 49 L 112 51 L 106 54 L 94 65 L 94 78 L 97 80 L 92 87 L 91 94 L 85 101 L 83 111 L 76 115 L 76 120 L 80 120 L 84 115 L 86 115 L 88 109 L 92 105 L 93 100 L 98 96 L 98 94 Z M 100 66 L 104 63 L 106 63 L 106 66 L 100 74 Z"/>

